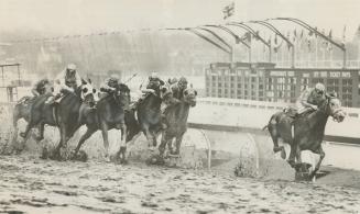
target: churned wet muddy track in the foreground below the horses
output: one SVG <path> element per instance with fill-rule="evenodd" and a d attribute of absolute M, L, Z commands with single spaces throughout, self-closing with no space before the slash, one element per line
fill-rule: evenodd
<path fill-rule="evenodd" d="M 0 156 L 0 213 L 360 212 L 360 189 L 341 187 L 346 180 L 334 184 L 343 174 L 359 178 L 357 171 L 336 176 L 332 169 L 331 182 L 324 177 L 314 184 L 134 161 L 58 162 L 30 155 Z"/>

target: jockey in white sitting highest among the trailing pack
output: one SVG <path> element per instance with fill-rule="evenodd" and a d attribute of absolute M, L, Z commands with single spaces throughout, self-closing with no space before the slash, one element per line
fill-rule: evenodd
<path fill-rule="evenodd" d="M 76 65 L 69 64 L 56 76 L 54 80 L 54 93 L 46 101 L 47 104 L 58 102 L 64 91 L 75 92 L 77 87 L 81 86 L 81 78 L 76 71 Z"/>

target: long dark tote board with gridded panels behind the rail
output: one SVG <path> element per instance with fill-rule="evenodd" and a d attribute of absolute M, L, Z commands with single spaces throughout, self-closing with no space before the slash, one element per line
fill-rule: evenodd
<path fill-rule="evenodd" d="M 294 103 L 301 92 L 323 82 L 343 106 L 360 106 L 360 68 L 276 68 L 270 63 L 215 63 L 206 69 L 206 95 Z"/>

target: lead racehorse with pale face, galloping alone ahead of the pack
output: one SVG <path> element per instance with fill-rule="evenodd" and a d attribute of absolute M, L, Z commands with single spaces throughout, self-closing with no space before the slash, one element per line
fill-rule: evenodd
<path fill-rule="evenodd" d="M 264 129 L 268 127 L 274 144 L 274 153 L 282 151 L 285 154 L 284 147 L 279 146 L 280 138 L 283 139 L 284 143 L 290 144 L 291 154 L 287 161 L 296 171 L 299 171 L 299 167 L 302 167 L 302 150 L 310 150 L 318 154 L 320 156 L 319 161 L 309 176 L 314 178 L 325 157 L 321 143 L 329 116 L 332 116 L 332 119 L 339 123 L 342 122 L 346 116 L 346 112 L 341 109 L 340 100 L 332 94 L 326 94 L 318 110 L 298 115 L 295 117 L 294 122 L 294 119 L 284 112 L 273 114 Z M 295 162 L 295 157 L 297 162 Z"/>

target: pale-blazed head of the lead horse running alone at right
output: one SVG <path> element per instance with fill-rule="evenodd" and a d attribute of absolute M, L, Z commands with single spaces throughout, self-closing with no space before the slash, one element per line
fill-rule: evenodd
<path fill-rule="evenodd" d="M 326 94 L 323 109 L 328 115 L 332 116 L 334 121 L 337 121 L 338 123 L 342 122 L 346 116 L 346 112 L 341 108 L 341 102 L 335 93 Z"/>

